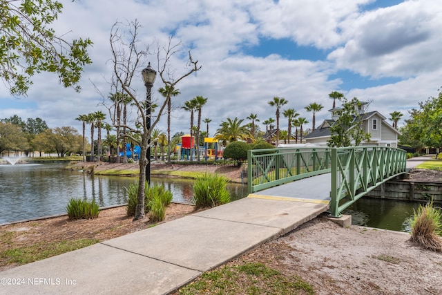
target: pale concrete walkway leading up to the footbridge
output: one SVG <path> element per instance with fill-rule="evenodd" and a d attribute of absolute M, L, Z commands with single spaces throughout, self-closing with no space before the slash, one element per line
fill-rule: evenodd
<path fill-rule="evenodd" d="M 327 208 L 244 198 L 0 272 L 0 294 L 168 294 Z"/>

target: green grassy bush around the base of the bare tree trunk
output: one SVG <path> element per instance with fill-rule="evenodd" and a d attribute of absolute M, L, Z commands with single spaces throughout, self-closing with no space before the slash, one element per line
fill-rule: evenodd
<path fill-rule="evenodd" d="M 135 216 L 135 209 L 138 204 L 138 184 L 131 184 L 126 189 L 128 193 L 126 215 Z M 164 185 L 148 187 L 144 185 L 144 213 L 151 213 L 151 220 L 154 222 L 164 220 L 166 207 L 171 204 L 173 194 L 167 191 Z"/>

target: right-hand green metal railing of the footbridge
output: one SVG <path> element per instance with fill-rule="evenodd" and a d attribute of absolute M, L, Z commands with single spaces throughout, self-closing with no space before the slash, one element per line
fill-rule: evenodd
<path fill-rule="evenodd" d="M 406 171 L 406 152 L 387 146 L 333 148 L 331 216 L 341 212 L 379 184 Z"/>

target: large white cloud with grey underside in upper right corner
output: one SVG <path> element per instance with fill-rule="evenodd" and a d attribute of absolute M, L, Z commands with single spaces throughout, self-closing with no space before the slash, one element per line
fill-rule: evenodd
<path fill-rule="evenodd" d="M 329 54 L 340 69 L 369 77 L 416 77 L 442 66 L 442 7 L 405 1 L 344 21 L 347 42 Z"/>

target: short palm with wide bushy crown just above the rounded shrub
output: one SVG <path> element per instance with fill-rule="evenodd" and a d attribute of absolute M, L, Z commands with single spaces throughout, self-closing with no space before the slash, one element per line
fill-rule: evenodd
<path fill-rule="evenodd" d="M 238 117 L 233 120 L 227 118 L 227 121 L 222 121 L 220 128 L 215 133 L 215 139 L 221 140 L 224 145 L 227 142 L 236 142 L 237 140 L 251 139 L 254 142 L 255 140 L 247 127 L 241 125 L 242 121 L 244 120 L 239 120 Z"/>

